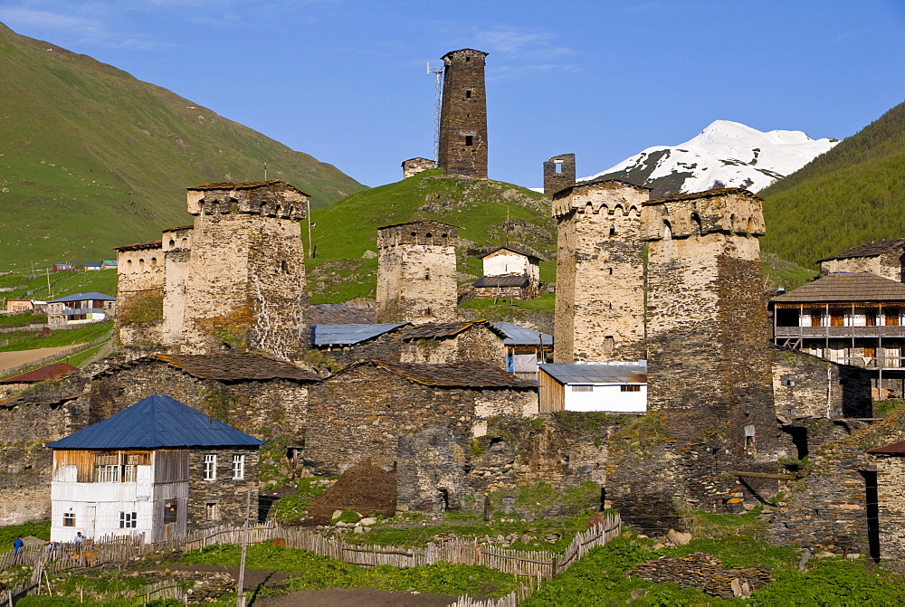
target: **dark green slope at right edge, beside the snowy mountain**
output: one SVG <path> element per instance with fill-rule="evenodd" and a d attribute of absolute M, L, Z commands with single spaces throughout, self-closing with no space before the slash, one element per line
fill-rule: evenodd
<path fill-rule="evenodd" d="M 808 267 L 862 242 L 905 236 L 905 103 L 758 194 L 765 251 Z"/>

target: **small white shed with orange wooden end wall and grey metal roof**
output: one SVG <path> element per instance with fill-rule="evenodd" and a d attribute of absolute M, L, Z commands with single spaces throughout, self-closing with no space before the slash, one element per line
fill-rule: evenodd
<path fill-rule="evenodd" d="M 538 366 L 542 412 L 647 412 L 646 360 Z"/>

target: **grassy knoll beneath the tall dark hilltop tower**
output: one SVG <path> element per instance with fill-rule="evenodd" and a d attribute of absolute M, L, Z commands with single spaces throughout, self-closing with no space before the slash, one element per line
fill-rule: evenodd
<path fill-rule="evenodd" d="M 549 196 L 518 185 L 446 176 L 439 169 L 352 194 L 311 213 L 316 224 L 315 257 L 308 268 L 311 302 L 374 297 L 377 228 L 391 223 L 434 219 L 462 228 L 462 284 L 481 276 L 476 256 L 507 242 L 507 232 L 511 247 L 552 260 L 556 228 L 549 205 Z M 554 280 L 555 272 L 555 261 L 541 262 L 541 280 Z"/>

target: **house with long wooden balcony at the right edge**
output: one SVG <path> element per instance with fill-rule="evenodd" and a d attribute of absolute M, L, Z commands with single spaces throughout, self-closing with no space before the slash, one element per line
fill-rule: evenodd
<path fill-rule="evenodd" d="M 868 271 L 833 272 L 776 296 L 770 307 L 777 346 L 869 370 L 875 400 L 905 394 L 905 284 Z"/>

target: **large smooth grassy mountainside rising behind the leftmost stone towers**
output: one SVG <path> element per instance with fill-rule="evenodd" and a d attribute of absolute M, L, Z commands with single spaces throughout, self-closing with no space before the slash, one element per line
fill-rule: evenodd
<path fill-rule="evenodd" d="M 186 223 L 186 186 L 288 181 L 326 206 L 364 188 L 169 90 L 0 24 L 0 270 L 100 261 Z M 303 119 L 303 117 L 302 117 Z"/>

